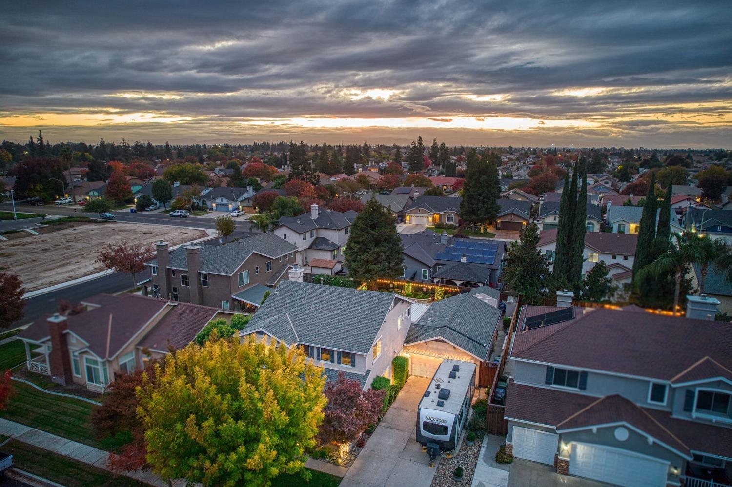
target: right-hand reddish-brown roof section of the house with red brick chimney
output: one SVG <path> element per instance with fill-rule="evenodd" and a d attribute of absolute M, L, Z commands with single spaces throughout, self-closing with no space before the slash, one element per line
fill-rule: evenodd
<path fill-rule="evenodd" d="M 138 343 L 138 347 L 166 352 L 168 346 L 183 348 L 219 312 L 216 308 L 190 303 L 170 303 L 171 309 Z"/>

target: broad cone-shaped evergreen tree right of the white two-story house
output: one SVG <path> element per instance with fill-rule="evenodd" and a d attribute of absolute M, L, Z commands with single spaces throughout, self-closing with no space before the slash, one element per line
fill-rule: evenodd
<path fill-rule="evenodd" d="M 345 261 L 348 274 L 369 283 L 394 279 L 404 273 L 402 252 L 392 212 L 372 197 L 351 225 Z"/>

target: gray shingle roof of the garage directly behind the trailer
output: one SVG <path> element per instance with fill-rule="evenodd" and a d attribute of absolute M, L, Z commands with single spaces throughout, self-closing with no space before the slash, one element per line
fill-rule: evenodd
<path fill-rule="evenodd" d="M 436 301 L 409 328 L 405 344 L 444 338 L 480 360 L 487 360 L 501 311 L 469 294 Z"/>

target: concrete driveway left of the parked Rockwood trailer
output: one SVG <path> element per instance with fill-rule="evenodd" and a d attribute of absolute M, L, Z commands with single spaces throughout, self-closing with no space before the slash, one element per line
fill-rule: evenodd
<path fill-rule="evenodd" d="M 430 379 L 409 377 L 399 396 L 376 427 L 341 487 L 423 487 L 432 483 L 439 458 L 430 458 L 417 443 L 417 404 Z"/>

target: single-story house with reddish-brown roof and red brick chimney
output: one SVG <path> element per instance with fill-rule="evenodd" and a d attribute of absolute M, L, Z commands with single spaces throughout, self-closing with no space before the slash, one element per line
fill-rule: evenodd
<path fill-rule="evenodd" d="M 100 393 L 119 374 L 144 366 L 171 347 L 185 347 L 209 321 L 232 316 L 135 294 L 100 294 L 81 304 L 81 313 L 37 320 L 18 338 L 25 342 L 29 371 Z"/>

